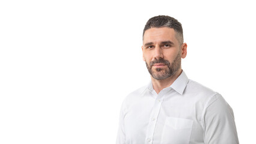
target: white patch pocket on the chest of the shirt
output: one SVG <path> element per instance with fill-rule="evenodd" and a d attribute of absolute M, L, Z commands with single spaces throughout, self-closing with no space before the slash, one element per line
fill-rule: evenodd
<path fill-rule="evenodd" d="M 183 118 L 166 118 L 161 144 L 189 144 L 193 121 Z"/>

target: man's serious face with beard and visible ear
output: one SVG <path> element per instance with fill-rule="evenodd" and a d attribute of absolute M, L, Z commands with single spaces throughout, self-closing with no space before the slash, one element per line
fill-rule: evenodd
<path fill-rule="evenodd" d="M 180 44 L 172 28 L 150 28 L 144 33 L 143 59 L 154 79 L 163 80 L 181 69 L 186 57 L 186 43 Z"/>

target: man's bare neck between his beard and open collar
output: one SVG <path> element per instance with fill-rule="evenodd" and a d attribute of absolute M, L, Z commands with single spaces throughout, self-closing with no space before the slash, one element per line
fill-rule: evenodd
<path fill-rule="evenodd" d="M 159 94 L 159 92 L 162 91 L 162 89 L 172 85 L 172 83 L 178 78 L 178 76 L 180 76 L 181 73 L 182 70 L 180 69 L 173 76 L 170 76 L 163 80 L 156 80 L 151 76 L 154 91 L 156 91 L 156 93 Z"/>

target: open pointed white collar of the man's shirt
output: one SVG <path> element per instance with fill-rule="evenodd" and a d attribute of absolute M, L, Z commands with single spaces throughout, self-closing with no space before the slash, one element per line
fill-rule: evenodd
<path fill-rule="evenodd" d="M 189 82 L 189 79 L 187 78 L 186 74 L 184 71 L 181 72 L 180 76 L 170 85 L 169 87 L 174 89 L 175 91 L 178 92 L 178 94 L 182 95 L 184 92 L 184 89 L 187 86 L 187 83 Z M 152 82 L 148 84 L 147 88 L 152 92 L 154 91 Z"/>

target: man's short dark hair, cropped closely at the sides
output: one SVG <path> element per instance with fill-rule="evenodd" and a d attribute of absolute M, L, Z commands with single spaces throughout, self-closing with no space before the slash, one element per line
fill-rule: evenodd
<path fill-rule="evenodd" d="M 168 27 L 173 28 L 176 32 L 176 38 L 180 42 L 180 44 L 183 43 L 183 29 L 181 26 L 181 23 L 178 22 L 177 19 L 174 19 L 170 16 L 155 16 L 151 17 L 148 22 L 146 23 L 142 38 L 144 38 L 145 31 L 150 28 L 162 28 L 162 27 Z"/>

